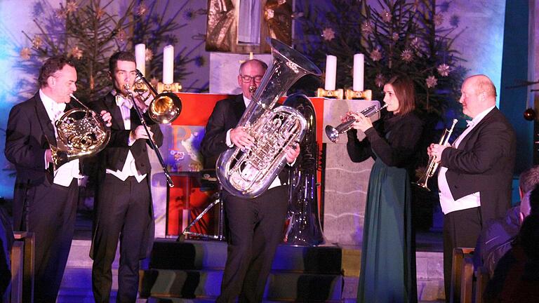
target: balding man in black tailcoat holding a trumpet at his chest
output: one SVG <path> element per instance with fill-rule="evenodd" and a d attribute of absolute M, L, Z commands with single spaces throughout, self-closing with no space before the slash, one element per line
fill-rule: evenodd
<path fill-rule="evenodd" d="M 449 299 L 453 248 L 475 247 L 484 222 L 502 217 L 511 204 L 517 149 L 514 129 L 495 107 L 496 88 L 484 75 L 461 88 L 463 114 L 471 125 L 451 147 L 427 149 L 440 163 L 440 204 L 444 212 L 444 281 Z M 459 298 L 455 298 L 459 299 Z"/>

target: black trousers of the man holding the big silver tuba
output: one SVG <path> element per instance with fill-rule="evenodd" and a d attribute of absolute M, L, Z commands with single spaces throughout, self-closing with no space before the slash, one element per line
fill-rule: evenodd
<path fill-rule="evenodd" d="M 223 192 L 229 227 L 227 263 L 217 302 L 261 302 L 273 257 L 283 238 L 286 186 L 252 199 Z"/>

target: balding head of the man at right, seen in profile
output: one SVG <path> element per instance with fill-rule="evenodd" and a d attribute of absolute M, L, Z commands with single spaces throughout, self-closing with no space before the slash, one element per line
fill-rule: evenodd
<path fill-rule="evenodd" d="M 472 118 L 496 105 L 494 83 L 483 74 L 468 77 L 463 83 L 461 93 L 463 114 Z"/>

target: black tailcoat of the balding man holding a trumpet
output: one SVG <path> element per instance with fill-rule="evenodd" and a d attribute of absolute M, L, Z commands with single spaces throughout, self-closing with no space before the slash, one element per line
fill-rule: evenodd
<path fill-rule="evenodd" d="M 512 125 L 494 108 L 460 142 L 446 148 L 441 166 L 455 200 L 479 191 L 482 221 L 502 217 L 511 204 L 517 142 Z"/>

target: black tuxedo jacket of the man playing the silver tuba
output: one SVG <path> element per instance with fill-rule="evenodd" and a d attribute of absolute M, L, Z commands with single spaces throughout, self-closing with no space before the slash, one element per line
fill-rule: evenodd
<path fill-rule="evenodd" d="M 204 156 L 204 168 L 215 168 L 219 155 L 225 152 L 227 146 L 227 130 L 235 128 L 245 112 L 244 95 L 235 95 L 215 104 L 215 108 L 206 124 L 206 133 L 200 144 Z M 299 161 L 295 161 L 298 163 Z M 285 166 L 288 168 L 288 166 Z M 281 184 L 288 183 L 288 170 L 279 173 Z"/>

